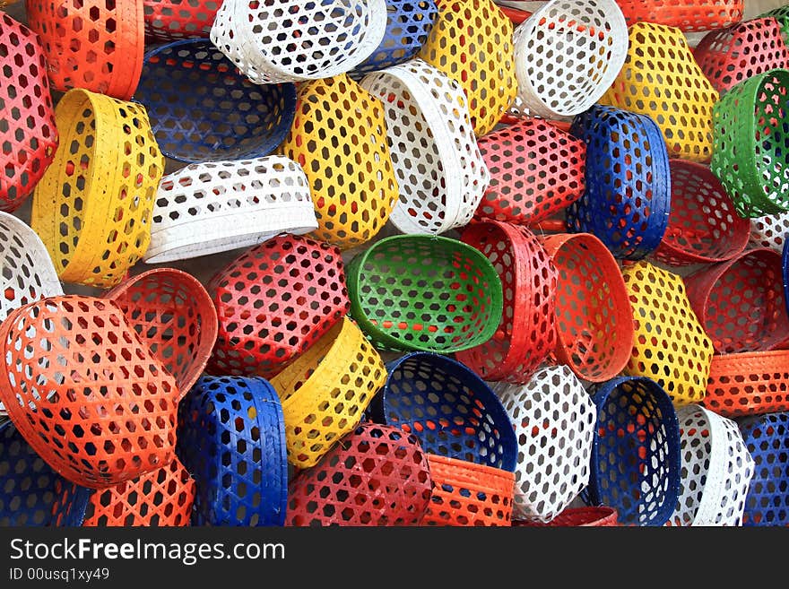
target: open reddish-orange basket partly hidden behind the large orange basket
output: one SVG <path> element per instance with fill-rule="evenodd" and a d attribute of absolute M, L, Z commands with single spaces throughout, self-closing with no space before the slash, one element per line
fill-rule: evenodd
<path fill-rule="evenodd" d="M 104 298 L 123 311 L 126 324 L 175 377 L 180 400 L 216 341 L 216 309 L 203 285 L 191 274 L 158 268 L 127 279 Z"/>

